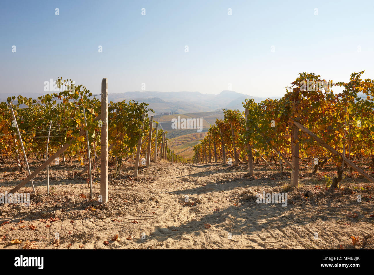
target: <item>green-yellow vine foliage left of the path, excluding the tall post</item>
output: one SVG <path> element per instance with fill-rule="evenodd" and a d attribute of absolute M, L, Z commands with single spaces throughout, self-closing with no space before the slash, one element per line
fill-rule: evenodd
<path fill-rule="evenodd" d="M 22 169 L 25 163 L 10 110 L 10 104 L 12 104 L 27 158 L 45 158 L 48 135 L 50 135 L 48 155 L 53 155 L 67 141 L 76 137 L 61 156 L 61 161 L 65 161 L 65 158 L 67 162 L 78 159 L 84 168 L 88 166 L 88 146 L 86 136 L 80 136 L 79 132 L 86 130 L 89 134 L 92 167 L 98 167 L 102 121 L 95 121 L 95 118 L 101 113 L 101 95 L 98 95 L 99 99 L 97 99 L 85 86 L 75 86 L 71 79 L 59 78 L 55 88 L 58 88 L 59 92 L 46 94 L 37 99 L 19 95 L 17 98 L 9 97 L 7 102 L 0 103 L 0 164 L 15 161 Z M 154 155 L 156 127 L 150 126 L 148 112 L 153 112 L 153 110 L 148 108 L 146 103 L 126 100 L 108 103 L 109 163 L 116 165 L 117 171 L 124 161 L 135 158 L 140 137 L 143 141 L 141 159 L 146 158 L 150 127 L 153 130 L 150 154 Z M 143 113 L 145 113 L 144 121 L 142 120 Z M 143 123 L 144 127 L 142 127 Z M 153 123 L 153 125 L 157 124 L 157 122 Z M 164 133 L 166 135 L 167 132 L 162 129 L 157 131 L 157 156 L 161 153 Z M 166 150 L 164 159 L 173 162 L 184 161 L 169 148 Z M 56 163 L 59 161 L 60 159 L 57 159 Z"/>

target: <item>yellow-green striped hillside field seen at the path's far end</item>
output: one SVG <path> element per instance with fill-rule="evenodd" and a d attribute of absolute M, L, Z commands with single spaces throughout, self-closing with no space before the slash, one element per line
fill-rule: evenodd
<path fill-rule="evenodd" d="M 192 133 L 181 135 L 179 137 L 171 138 L 169 140 L 169 147 L 175 154 L 182 156 L 185 159 L 190 159 L 193 156 L 193 146 L 198 144 L 204 137 L 206 132 Z"/>

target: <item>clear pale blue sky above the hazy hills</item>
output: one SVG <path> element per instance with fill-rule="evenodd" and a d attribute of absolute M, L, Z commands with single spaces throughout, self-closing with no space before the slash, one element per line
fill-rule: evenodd
<path fill-rule="evenodd" d="M 0 95 L 43 94 L 59 76 L 94 94 L 106 77 L 110 93 L 145 83 L 218 94 L 231 83 L 267 97 L 303 71 L 335 82 L 366 70 L 372 79 L 373 14 L 372 0 L 2 1 Z"/>

